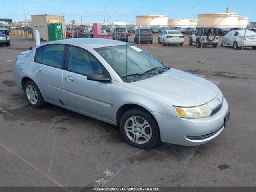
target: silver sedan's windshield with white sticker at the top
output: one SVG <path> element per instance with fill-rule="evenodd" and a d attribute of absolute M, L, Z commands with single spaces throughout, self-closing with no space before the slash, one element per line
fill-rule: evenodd
<path fill-rule="evenodd" d="M 95 49 L 124 82 L 134 82 L 169 70 L 158 60 L 131 44 Z"/>

